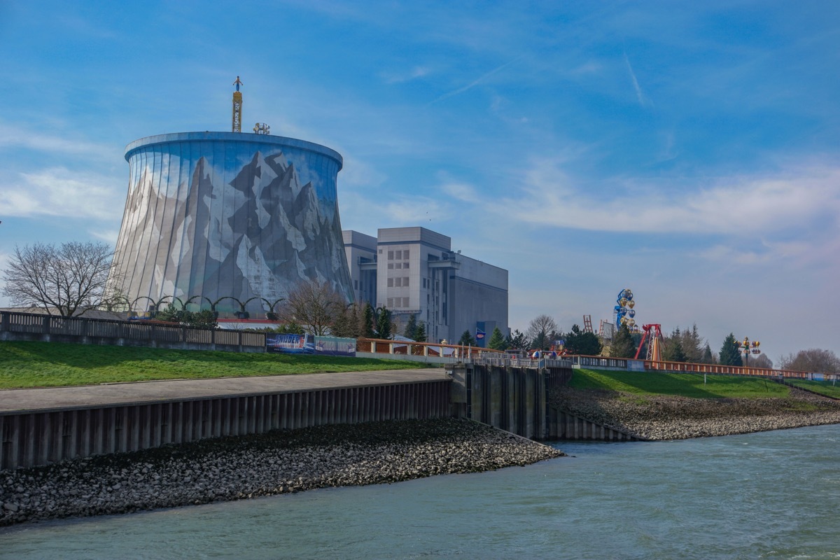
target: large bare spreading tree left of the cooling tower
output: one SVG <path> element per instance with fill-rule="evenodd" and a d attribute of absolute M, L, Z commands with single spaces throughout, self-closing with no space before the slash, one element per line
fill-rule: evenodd
<path fill-rule="evenodd" d="M 102 304 L 112 256 L 105 243 L 16 246 L 3 271 L 3 294 L 13 306 L 39 307 L 62 317 L 81 315 Z"/>

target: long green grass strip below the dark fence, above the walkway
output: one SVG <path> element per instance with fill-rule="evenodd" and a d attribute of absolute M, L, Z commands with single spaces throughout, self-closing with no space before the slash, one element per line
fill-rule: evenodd
<path fill-rule="evenodd" d="M 0 342 L 0 389 L 417 367 L 429 365 L 339 356 Z"/>

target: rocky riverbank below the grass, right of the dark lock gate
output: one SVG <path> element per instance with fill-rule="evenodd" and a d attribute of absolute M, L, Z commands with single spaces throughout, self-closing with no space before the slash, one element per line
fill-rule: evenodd
<path fill-rule="evenodd" d="M 798 389 L 784 399 L 690 399 L 563 387 L 551 400 L 562 411 L 648 440 L 840 424 L 840 402 Z"/>

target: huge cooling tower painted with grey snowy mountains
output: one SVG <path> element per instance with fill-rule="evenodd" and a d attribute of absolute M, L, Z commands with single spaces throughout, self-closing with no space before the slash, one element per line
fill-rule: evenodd
<path fill-rule="evenodd" d="M 135 311 L 165 297 L 223 313 L 251 300 L 256 317 L 308 280 L 352 301 L 337 152 L 266 134 L 175 133 L 129 144 L 125 159 L 109 282 Z"/>

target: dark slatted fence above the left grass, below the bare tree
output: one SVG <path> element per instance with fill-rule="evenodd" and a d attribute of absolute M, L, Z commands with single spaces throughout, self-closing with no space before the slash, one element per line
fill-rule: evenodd
<path fill-rule="evenodd" d="M 265 352 L 265 333 L 0 311 L 0 340 Z"/>

